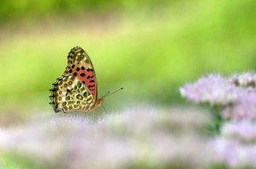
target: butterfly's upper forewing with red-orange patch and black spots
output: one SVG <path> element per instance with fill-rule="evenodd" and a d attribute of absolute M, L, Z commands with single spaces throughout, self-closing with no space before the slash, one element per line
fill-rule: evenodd
<path fill-rule="evenodd" d="M 71 49 L 67 56 L 67 68 L 64 72 L 65 76 L 76 76 L 84 86 L 88 88 L 93 96 L 97 99 L 96 74 L 88 54 L 83 48 L 75 47 Z"/>

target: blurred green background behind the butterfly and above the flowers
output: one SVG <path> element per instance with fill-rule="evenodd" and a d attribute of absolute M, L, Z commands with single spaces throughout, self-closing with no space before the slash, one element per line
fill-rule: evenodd
<path fill-rule="evenodd" d="M 107 110 L 181 104 L 184 82 L 255 69 L 255 8 L 253 0 L 3 0 L 0 122 L 54 113 L 49 88 L 74 46 L 92 60 L 99 96 L 124 87 L 104 100 Z"/>

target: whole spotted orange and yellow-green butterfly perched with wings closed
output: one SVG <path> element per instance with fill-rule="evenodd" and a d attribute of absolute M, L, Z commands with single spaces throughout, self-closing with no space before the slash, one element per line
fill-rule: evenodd
<path fill-rule="evenodd" d="M 66 70 L 52 84 L 49 92 L 49 104 L 55 112 L 88 112 L 102 105 L 103 97 L 97 99 L 95 70 L 83 48 L 71 49 L 67 56 Z"/>

